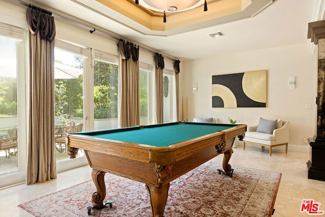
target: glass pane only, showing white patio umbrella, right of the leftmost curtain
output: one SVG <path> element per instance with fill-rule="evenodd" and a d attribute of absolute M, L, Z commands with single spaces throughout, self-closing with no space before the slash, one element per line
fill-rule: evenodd
<path fill-rule="evenodd" d="M 70 159 L 65 135 L 83 130 L 83 57 L 54 50 L 56 161 Z M 77 157 L 82 157 L 83 151 Z"/>

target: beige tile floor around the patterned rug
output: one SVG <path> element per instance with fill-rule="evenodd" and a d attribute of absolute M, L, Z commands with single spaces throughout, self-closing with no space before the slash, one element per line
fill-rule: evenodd
<path fill-rule="evenodd" d="M 325 211 L 325 181 L 307 178 L 306 162 L 308 160 L 309 153 L 290 151 L 290 148 L 287 154 L 283 147 L 274 148 L 274 150 L 272 149 L 272 157 L 270 157 L 268 148 L 261 149 L 261 147 L 249 146 L 243 150 L 242 146 L 238 146 L 234 148 L 230 163 L 233 168 L 240 166 L 281 172 L 282 178 L 273 216 L 294 217 L 309 216 L 306 212 L 300 212 L 303 199 L 313 199 L 321 204 L 320 210 Z M 221 163 L 222 157 L 218 156 L 212 161 Z M 89 180 L 91 179 L 90 171 L 89 166 L 84 166 L 58 173 L 57 179 L 46 183 L 28 186 L 20 184 L 0 190 L 0 216 L 29 216 L 17 208 L 17 205 Z M 234 172 L 236 173 L 236 168 Z M 46 207 L 44 208 L 46 209 Z"/>

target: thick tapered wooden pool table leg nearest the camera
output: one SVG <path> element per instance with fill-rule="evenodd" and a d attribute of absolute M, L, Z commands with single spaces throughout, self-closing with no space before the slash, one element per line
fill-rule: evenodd
<path fill-rule="evenodd" d="M 146 189 L 150 195 L 153 217 L 163 217 L 168 197 L 169 186 L 170 183 L 160 188 L 146 184 Z"/>

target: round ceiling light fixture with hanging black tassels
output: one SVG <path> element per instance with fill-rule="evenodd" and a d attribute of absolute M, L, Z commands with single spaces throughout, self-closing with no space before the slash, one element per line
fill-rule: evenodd
<path fill-rule="evenodd" d="M 197 8 L 204 3 L 204 11 L 208 10 L 207 0 L 136 0 L 136 4 L 140 4 L 145 8 L 153 11 L 164 12 L 164 22 L 166 22 L 167 12 L 182 12 Z"/>

